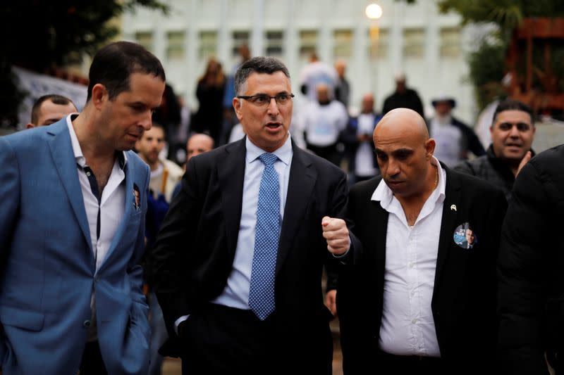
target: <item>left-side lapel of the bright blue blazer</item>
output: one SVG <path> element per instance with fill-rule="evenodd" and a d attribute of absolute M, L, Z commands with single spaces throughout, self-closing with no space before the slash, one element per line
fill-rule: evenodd
<path fill-rule="evenodd" d="M 51 155 L 63 187 L 71 201 L 71 206 L 75 214 L 78 226 L 84 235 L 90 254 L 92 254 L 92 242 L 90 239 L 90 228 L 86 217 L 86 209 L 84 199 L 82 198 L 82 189 L 78 180 L 77 164 L 71 144 L 71 134 L 68 132 L 66 125 L 66 117 L 56 124 L 49 126 L 49 132 L 53 137 L 49 140 L 49 148 Z"/>

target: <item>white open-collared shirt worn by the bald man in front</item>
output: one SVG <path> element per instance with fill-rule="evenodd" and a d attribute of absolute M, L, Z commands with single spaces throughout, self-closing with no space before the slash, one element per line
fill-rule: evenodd
<path fill-rule="evenodd" d="M 441 356 L 431 298 L 446 172 L 436 158 L 434 161 L 438 165 L 439 181 L 413 226 L 407 224 L 400 202 L 384 180 L 372 195 L 372 201 L 379 201 L 389 212 L 379 348 L 394 355 Z"/>

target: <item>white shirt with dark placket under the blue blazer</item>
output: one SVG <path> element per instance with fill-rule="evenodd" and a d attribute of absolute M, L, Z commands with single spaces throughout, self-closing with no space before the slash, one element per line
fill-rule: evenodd
<path fill-rule="evenodd" d="M 88 227 L 90 229 L 90 245 L 92 246 L 92 253 L 96 261 L 95 272 L 97 272 L 102 262 L 104 262 L 104 258 L 106 258 L 106 254 L 111 246 L 111 241 L 114 239 L 116 229 L 118 229 L 125 212 L 125 172 L 123 172 L 123 168 L 125 167 L 125 163 L 127 163 L 127 155 L 123 152 L 123 162 L 120 161 L 120 158 L 116 158 L 108 183 L 102 191 L 102 198 L 98 204 L 98 198 L 92 193 L 90 181 L 87 176 L 87 173 L 90 172 L 84 170 L 84 168 L 87 167 L 86 158 L 82 155 L 82 149 L 80 148 L 75 129 L 73 128 L 73 116 L 76 115 L 68 115 L 68 117 L 66 117 L 66 125 L 68 126 L 68 132 L 71 134 L 71 144 L 77 165 L 78 181 L 80 182 L 80 190 L 82 191 L 82 199 L 84 201 Z M 123 165 L 121 165 L 121 163 L 123 163 Z M 98 210 L 100 211 L 99 236 L 97 235 Z M 90 307 L 92 308 L 92 325 L 90 326 L 88 341 L 94 341 L 97 339 L 94 291 L 92 291 Z"/>

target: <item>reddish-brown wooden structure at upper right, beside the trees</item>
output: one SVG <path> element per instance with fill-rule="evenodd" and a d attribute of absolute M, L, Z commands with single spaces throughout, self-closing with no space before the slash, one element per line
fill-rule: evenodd
<path fill-rule="evenodd" d="M 534 49 L 539 48 L 541 66 L 534 65 L 533 59 Z M 564 18 L 525 18 L 505 58 L 511 75 L 510 97 L 527 103 L 535 113 L 564 112 L 564 77 L 554 74 L 551 58 L 555 48 L 564 48 Z M 564 61 L 559 63 L 564 67 Z"/>

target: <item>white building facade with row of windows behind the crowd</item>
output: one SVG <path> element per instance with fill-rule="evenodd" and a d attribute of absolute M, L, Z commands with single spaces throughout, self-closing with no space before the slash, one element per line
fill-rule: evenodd
<path fill-rule="evenodd" d="M 416 89 L 426 111 L 431 99 L 445 94 L 458 105 L 454 114 L 474 124 L 477 108 L 467 80 L 466 54 L 476 32 L 460 27 L 460 17 L 441 14 L 435 0 L 376 0 L 379 20 L 369 20 L 367 0 L 166 0 L 168 15 L 139 8 L 123 15 L 123 39 L 145 45 L 166 70 L 167 80 L 198 106 L 195 89 L 207 61 L 215 57 L 223 71 L 238 63 L 240 44 L 252 56 L 276 56 L 290 70 L 298 108 L 300 70 L 309 54 L 329 64 L 347 62 L 350 110 L 360 108 L 363 94 L 372 92 L 376 110 L 394 90 L 393 77 L 405 73 L 407 86 Z"/>

